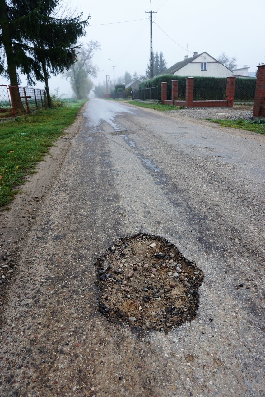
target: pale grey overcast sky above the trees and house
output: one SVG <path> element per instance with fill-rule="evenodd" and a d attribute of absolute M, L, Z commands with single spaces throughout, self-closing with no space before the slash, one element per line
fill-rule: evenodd
<path fill-rule="evenodd" d="M 150 19 L 145 12 L 151 6 L 157 12 L 153 51 L 163 52 L 167 67 L 184 59 L 187 44 L 189 56 L 206 51 L 217 58 L 225 52 L 229 58 L 236 56 L 238 67 L 250 66 L 249 71 L 265 62 L 265 0 L 153 0 L 151 5 L 150 0 L 73 0 L 71 4 L 77 4 L 84 18 L 91 15 L 83 42 L 101 43 L 94 56 L 99 67 L 95 84 L 103 82 L 106 74 L 113 79 L 113 62 L 108 58 L 114 61 L 115 78 L 125 71 L 145 74 L 150 55 Z M 70 96 L 70 85 L 61 77 L 52 78 L 50 86 L 52 93 L 59 86 Z"/>

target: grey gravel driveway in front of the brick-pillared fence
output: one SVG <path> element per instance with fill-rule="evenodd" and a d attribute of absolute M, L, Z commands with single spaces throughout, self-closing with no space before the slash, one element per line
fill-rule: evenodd
<path fill-rule="evenodd" d="M 229 108 L 186 108 L 181 110 L 170 110 L 165 113 L 174 113 L 174 116 L 191 117 L 195 119 L 228 119 L 228 120 L 250 120 L 253 110 L 229 109 Z"/>

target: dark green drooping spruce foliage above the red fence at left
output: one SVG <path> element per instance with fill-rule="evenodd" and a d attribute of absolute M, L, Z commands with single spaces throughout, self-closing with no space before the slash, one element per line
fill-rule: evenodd
<path fill-rule="evenodd" d="M 0 0 L 0 73 L 13 86 L 19 84 L 17 70 L 27 75 L 29 84 L 44 81 L 48 106 L 48 78 L 75 62 L 77 39 L 88 25 L 82 14 L 56 18 L 59 6 L 60 0 Z"/>

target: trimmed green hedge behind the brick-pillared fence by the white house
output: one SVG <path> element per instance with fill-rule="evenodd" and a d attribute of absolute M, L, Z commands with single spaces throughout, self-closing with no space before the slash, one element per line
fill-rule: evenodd
<path fill-rule="evenodd" d="M 188 77 L 188 76 L 187 76 Z M 161 98 L 161 83 L 166 81 L 167 98 L 171 98 L 171 81 L 178 80 L 178 97 L 185 100 L 186 76 L 160 75 L 152 80 L 139 83 L 139 88 L 159 87 Z M 254 100 L 256 79 L 236 78 L 235 100 Z M 194 77 L 194 100 L 222 100 L 225 99 L 226 77 Z"/>

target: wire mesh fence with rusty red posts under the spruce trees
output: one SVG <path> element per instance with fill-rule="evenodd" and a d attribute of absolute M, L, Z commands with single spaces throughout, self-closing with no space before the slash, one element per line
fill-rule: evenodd
<path fill-rule="evenodd" d="M 0 118 L 19 116 L 45 106 L 45 90 L 0 85 Z"/>

